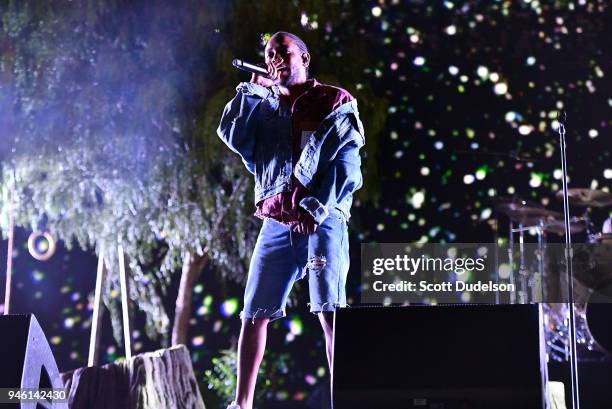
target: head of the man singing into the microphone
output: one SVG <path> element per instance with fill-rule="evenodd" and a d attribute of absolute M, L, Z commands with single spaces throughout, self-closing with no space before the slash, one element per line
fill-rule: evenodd
<path fill-rule="evenodd" d="M 282 35 L 274 36 L 266 45 L 266 63 L 280 62 L 278 65 L 278 84 L 291 86 L 306 81 L 306 66 L 310 55 L 303 54 L 295 42 Z"/>

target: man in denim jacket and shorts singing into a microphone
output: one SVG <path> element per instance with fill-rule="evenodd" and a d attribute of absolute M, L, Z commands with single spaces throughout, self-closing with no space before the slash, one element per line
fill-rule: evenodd
<path fill-rule="evenodd" d="M 331 374 L 333 311 L 346 306 L 346 223 L 362 185 L 357 101 L 308 79 L 311 56 L 295 34 L 275 33 L 265 61 L 273 79 L 254 74 L 240 83 L 217 130 L 254 174 L 255 215 L 263 219 L 240 313 L 236 400 L 228 409 L 252 408 L 268 323 L 286 315 L 293 283 L 306 275 Z"/>

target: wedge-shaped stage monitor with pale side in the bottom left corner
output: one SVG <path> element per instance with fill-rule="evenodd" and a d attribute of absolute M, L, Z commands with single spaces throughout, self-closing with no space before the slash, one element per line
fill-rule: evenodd
<path fill-rule="evenodd" d="M 64 389 L 51 347 L 34 315 L 0 316 L 0 334 L 0 388 Z M 3 406 L 0 404 L 0 407 Z M 68 409 L 68 405 L 61 402 L 39 404 L 38 407 Z M 23 402 L 20 408 L 35 409 L 37 404 Z"/>

